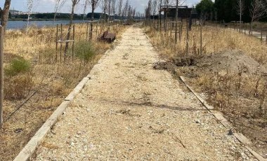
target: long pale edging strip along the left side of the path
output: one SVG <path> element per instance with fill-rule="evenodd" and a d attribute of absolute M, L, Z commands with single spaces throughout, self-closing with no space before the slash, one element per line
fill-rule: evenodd
<path fill-rule="evenodd" d="M 116 41 L 115 41 L 116 42 Z M 112 49 L 108 49 L 102 57 L 98 60 L 97 64 L 100 64 L 103 59 L 105 59 L 108 52 Z M 95 64 L 96 65 L 96 64 Z M 91 73 L 91 71 L 90 71 Z M 20 151 L 17 157 L 13 161 L 27 161 L 30 160 L 32 155 L 34 154 L 37 147 L 42 143 L 48 132 L 51 130 L 53 125 L 56 124 L 58 117 L 63 114 L 67 106 L 73 101 L 74 97 L 81 92 L 84 88 L 84 85 L 91 79 L 90 73 L 84 77 L 79 84 L 70 92 L 70 94 L 64 99 L 64 101 L 58 106 L 56 111 L 52 113 L 52 115 L 46 120 L 46 122 L 40 127 L 40 129 L 34 134 L 34 137 L 30 139 L 30 141 L 26 144 L 24 148 Z"/>

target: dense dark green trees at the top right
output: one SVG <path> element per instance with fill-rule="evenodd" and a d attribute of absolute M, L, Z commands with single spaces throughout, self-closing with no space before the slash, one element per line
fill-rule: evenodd
<path fill-rule="evenodd" d="M 239 7 L 238 2 L 240 0 L 202 0 L 197 4 L 197 12 L 204 16 L 207 20 L 219 20 L 219 21 L 238 21 Z M 252 7 L 252 1 L 254 0 L 242 0 L 244 3 L 244 10 L 242 12 L 242 21 L 251 22 L 252 18 L 249 13 L 249 8 Z M 259 21 L 267 22 L 267 14 L 261 16 Z"/>

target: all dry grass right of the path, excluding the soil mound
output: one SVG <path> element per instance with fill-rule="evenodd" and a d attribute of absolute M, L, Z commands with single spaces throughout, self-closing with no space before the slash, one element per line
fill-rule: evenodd
<path fill-rule="evenodd" d="M 183 29 L 181 41 L 174 43 L 174 36 L 162 31 L 145 27 L 152 44 L 168 62 L 178 57 L 201 57 L 218 55 L 226 50 L 239 50 L 252 57 L 261 66 L 266 66 L 267 45 L 254 36 L 241 34 L 233 29 L 221 27 L 202 28 L 202 55 L 200 55 L 200 27 L 193 26 L 189 31 L 188 54 L 186 53 L 186 35 Z M 210 64 L 212 66 L 212 59 Z M 235 65 L 235 64 L 233 64 Z M 245 64 L 246 65 L 246 64 Z M 237 64 L 236 64 L 237 66 Z M 203 67 L 203 66 L 202 66 Z M 257 67 L 257 66 L 256 66 Z M 267 76 L 264 73 L 247 73 L 238 66 L 233 69 L 200 70 L 198 66 L 183 66 L 175 69 L 176 75 L 188 76 L 188 80 L 199 92 L 207 96 L 210 104 L 222 111 L 228 120 L 252 139 L 262 155 L 267 151 Z M 205 66 L 204 66 L 205 68 Z M 267 71 L 265 71 L 267 73 Z"/>

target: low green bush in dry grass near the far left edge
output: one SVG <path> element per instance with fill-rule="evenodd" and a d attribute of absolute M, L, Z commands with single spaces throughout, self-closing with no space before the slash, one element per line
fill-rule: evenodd
<path fill-rule="evenodd" d="M 30 62 L 23 58 L 12 59 L 5 71 L 8 76 L 15 76 L 18 73 L 27 73 L 30 71 Z"/>

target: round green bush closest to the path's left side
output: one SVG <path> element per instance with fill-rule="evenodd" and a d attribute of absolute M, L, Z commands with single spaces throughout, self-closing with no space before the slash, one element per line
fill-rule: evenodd
<path fill-rule="evenodd" d="M 80 41 L 76 44 L 74 53 L 79 59 L 83 59 L 84 62 L 89 62 L 89 60 L 96 54 L 96 50 L 88 41 Z"/>

